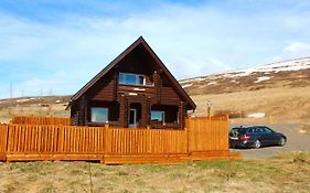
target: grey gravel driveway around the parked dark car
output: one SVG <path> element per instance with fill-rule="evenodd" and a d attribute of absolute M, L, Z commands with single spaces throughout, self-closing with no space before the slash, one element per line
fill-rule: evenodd
<path fill-rule="evenodd" d="M 236 125 L 231 125 L 234 127 Z M 287 136 L 285 147 L 263 147 L 260 149 L 231 149 L 232 152 L 240 152 L 244 159 L 265 159 L 287 151 L 308 151 L 310 152 L 310 135 L 299 132 L 300 125 L 267 125 L 271 129 Z"/>

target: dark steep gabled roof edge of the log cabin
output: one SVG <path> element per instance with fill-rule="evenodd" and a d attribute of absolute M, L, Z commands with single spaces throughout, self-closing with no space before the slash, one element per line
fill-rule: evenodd
<path fill-rule="evenodd" d="M 111 68 L 114 68 L 126 55 L 128 55 L 131 51 L 133 51 L 138 45 L 143 45 L 146 51 L 153 57 L 156 63 L 162 69 L 162 73 L 168 77 L 172 87 L 177 90 L 177 93 L 188 101 L 191 109 L 195 109 L 196 105 L 191 99 L 191 97 L 186 94 L 186 92 L 181 87 L 178 81 L 173 77 L 173 75 L 169 72 L 169 69 L 164 66 L 161 60 L 157 56 L 157 54 L 152 51 L 149 44 L 145 41 L 142 36 L 140 36 L 136 42 L 133 42 L 129 47 L 127 47 L 121 54 L 119 54 L 111 63 L 109 63 L 101 72 L 99 72 L 93 79 L 90 79 L 84 87 L 82 87 L 72 98 L 71 100 L 77 100 L 82 97 L 95 83 L 97 83 L 105 74 L 107 74 Z"/>

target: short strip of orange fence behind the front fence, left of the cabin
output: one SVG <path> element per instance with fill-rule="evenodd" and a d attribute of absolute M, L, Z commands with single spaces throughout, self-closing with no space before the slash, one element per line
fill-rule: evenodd
<path fill-rule="evenodd" d="M 71 118 L 67 118 L 67 117 L 15 116 L 12 119 L 12 124 L 70 126 L 71 125 Z"/>

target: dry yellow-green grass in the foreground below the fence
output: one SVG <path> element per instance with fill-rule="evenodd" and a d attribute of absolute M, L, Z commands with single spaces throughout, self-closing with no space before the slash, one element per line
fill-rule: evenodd
<path fill-rule="evenodd" d="M 90 170 L 89 170 L 90 167 Z M 104 165 L 0 163 L 0 192 L 308 192 L 310 153 L 266 160 Z"/>

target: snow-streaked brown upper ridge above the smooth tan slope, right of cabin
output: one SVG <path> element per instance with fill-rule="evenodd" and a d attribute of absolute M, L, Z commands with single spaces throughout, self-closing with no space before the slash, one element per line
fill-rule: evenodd
<path fill-rule="evenodd" d="M 310 85 L 310 57 L 179 81 L 190 95 Z"/>

